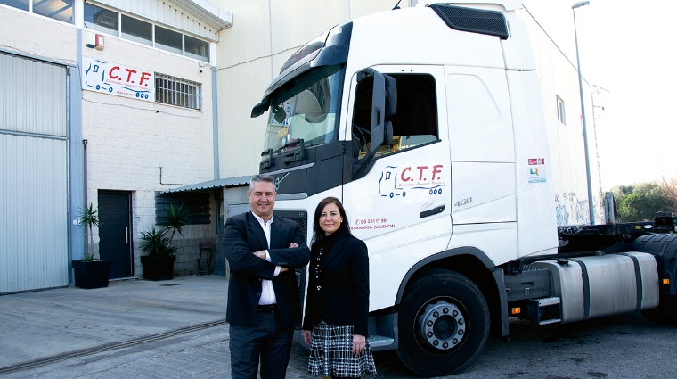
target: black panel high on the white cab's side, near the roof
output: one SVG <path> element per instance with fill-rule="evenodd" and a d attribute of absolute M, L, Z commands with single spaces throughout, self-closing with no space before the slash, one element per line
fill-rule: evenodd
<path fill-rule="evenodd" d="M 451 29 L 508 39 L 508 25 L 501 12 L 441 4 L 428 6 Z"/>

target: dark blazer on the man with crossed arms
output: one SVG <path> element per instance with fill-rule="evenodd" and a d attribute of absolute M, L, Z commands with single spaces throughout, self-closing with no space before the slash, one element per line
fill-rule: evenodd
<path fill-rule="evenodd" d="M 289 248 L 290 243 L 298 243 L 298 248 Z M 225 314 L 227 322 L 232 325 L 256 326 L 263 279 L 273 281 L 282 326 L 294 327 L 301 321 L 294 269 L 306 266 L 310 251 L 298 223 L 273 217 L 268 248 L 264 230 L 251 212 L 232 216 L 225 222 L 224 249 L 231 266 L 228 309 Z M 252 254 L 262 250 L 268 251 L 271 262 Z M 273 277 L 275 266 L 289 270 Z"/>

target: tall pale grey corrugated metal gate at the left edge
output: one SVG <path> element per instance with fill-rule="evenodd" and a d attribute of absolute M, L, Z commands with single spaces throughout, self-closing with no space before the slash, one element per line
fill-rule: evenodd
<path fill-rule="evenodd" d="M 0 293 L 69 284 L 66 79 L 0 53 Z"/>

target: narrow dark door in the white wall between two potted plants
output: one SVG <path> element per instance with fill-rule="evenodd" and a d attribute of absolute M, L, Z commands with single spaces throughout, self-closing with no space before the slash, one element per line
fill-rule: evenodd
<path fill-rule="evenodd" d="M 132 276 L 131 193 L 99 191 L 99 254 L 112 260 L 109 278 Z"/>

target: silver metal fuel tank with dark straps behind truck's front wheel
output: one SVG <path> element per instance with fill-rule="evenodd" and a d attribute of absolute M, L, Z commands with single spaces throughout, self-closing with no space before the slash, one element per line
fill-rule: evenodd
<path fill-rule="evenodd" d="M 657 264 L 651 254 L 632 251 L 531 265 L 550 272 L 552 295 L 561 299 L 562 323 L 658 306 Z"/>

